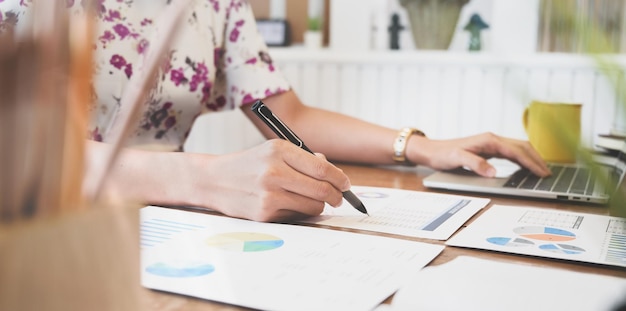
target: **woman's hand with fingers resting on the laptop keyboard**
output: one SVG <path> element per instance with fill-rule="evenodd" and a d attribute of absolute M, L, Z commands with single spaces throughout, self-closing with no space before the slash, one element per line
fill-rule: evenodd
<path fill-rule="evenodd" d="M 516 162 L 538 176 L 550 175 L 546 163 L 529 142 L 492 133 L 450 140 L 430 140 L 413 135 L 409 140 L 407 156 L 413 163 L 433 169 L 467 167 L 485 177 L 494 177 L 496 173 L 487 159 L 498 157 Z"/>

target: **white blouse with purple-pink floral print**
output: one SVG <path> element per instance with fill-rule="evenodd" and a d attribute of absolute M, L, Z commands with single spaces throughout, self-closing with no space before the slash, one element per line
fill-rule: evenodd
<path fill-rule="evenodd" d="M 73 13 L 80 0 L 65 0 Z M 159 15 L 170 0 L 99 0 L 95 36 L 95 103 L 89 138 L 106 141 L 124 88 Z M 202 113 L 235 109 L 290 88 L 272 63 L 245 0 L 194 0 L 168 54 L 169 65 L 129 138 L 130 145 L 182 150 Z M 0 0 L 0 28 L 27 19 L 32 0 Z"/>

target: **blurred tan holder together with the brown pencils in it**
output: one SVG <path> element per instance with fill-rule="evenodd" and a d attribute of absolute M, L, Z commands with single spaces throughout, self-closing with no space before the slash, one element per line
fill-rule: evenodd
<path fill-rule="evenodd" d="M 138 206 L 81 191 L 88 2 L 71 18 L 65 1 L 28 3 L 19 37 L 16 20 L 0 23 L 0 310 L 141 309 Z"/>

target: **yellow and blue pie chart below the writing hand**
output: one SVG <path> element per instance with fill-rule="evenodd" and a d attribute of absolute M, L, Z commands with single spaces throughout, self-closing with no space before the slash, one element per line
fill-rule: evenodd
<path fill-rule="evenodd" d="M 277 249 L 283 244 L 281 238 L 258 232 L 229 232 L 206 239 L 206 245 L 235 252 L 263 252 Z"/>

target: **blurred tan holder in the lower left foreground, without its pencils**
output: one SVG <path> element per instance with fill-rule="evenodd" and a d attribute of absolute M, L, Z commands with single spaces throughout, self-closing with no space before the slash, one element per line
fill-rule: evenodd
<path fill-rule="evenodd" d="M 142 310 L 139 208 L 0 227 L 0 310 Z"/>

